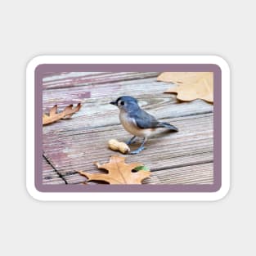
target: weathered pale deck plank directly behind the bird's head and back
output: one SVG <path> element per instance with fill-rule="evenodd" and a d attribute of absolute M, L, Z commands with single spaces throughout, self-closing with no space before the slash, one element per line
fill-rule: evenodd
<path fill-rule="evenodd" d="M 156 83 L 156 82 L 155 82 Z M 213 111 L 213 105 L 204 101 L 192 101 L 179 103 L 175 95 L 164 94 L 170 84 L 153 83 L 141 80 L 140 83 L 133 85 L 123 85 L 121 89 L 104 88 L 105 94 L 101 95 L 101 88 L 91 88 L 91 91 L 84 91 L 80 88 L 70 88 L 70 90 L 46 90 L 43 92 L 43 109 L 58 104 L 61 108 L 73 103 L 83 101 L 83 107 L 79 113 L 72 118 L 73 128 L 83 128 L 84 126 L 99 127 L 106 125 L 119 124 L 119 111 L 115 106 L 109 104 L 116 97 L 128 94 L 137 97 L 139 104 L 144 110 L 155 115 L 158 119 L 166 119 L 184 115 L 197 115 Z M 120 92 L 121 91 L 121 92 Z M 84 100 L 88 93 L 93 96 L 91 99 Z M 92 95 L 93 94 L 93 95 Z M 107 117 L 107 118 L 106 118 Z M 54 126 L 47 126 L 44 132 L 56 132 L 70 129 L 70 121 L 62 120 Z"/>

